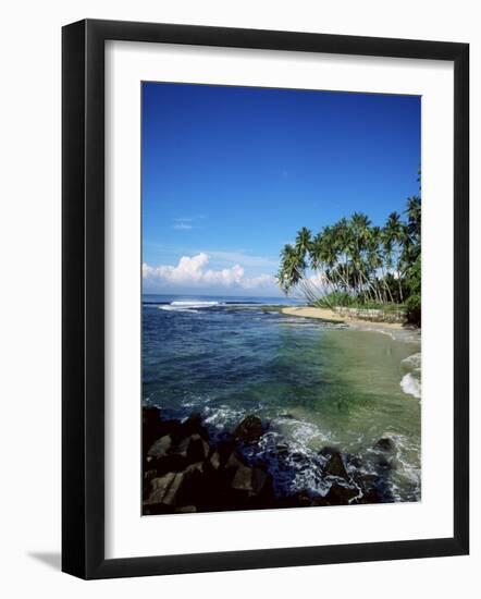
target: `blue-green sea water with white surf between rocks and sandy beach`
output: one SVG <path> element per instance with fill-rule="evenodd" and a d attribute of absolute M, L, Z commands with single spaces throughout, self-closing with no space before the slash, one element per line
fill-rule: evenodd
<path fill-rule="evenodd" d="M 379 475 L 374 445 L 390 437 L 386 501 L 418 501 L 419 333 L 286 316 L 281 303 L 295 301 L 144 295 L 144 404 L 180 418 L 200 412 L 219 436 L 259 415 L 269 429 L 248 457 L 269 464 L 281 494 L 329 490 L 326 445 Z"/>

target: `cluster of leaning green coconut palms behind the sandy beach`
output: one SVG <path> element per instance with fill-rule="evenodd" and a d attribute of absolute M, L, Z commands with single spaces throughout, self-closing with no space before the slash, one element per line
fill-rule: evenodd
<path fill-rule="evenodd" d="M 405 309 L 421 322 L 421 198 L 384 227 L 355 212 L 319 233 L 303 228 L 281 252 L 281 290 L 299 292 L 313 306 Z"/>

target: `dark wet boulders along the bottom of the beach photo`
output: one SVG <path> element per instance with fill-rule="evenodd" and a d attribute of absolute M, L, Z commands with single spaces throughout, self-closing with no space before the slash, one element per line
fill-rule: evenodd
<path fill-rule="evenodd" d="M 143 515 L 347 505 L 393 501 L 386 491 L 394 444 L 375 443 L 380 474 L 362 474 L 359 460 L 323 448 L 324 496 L 307 490 L 275 493 L 274 479 L 261 460 L 247 460 L 245 449 L 267 429 L 258 416 L 244 418 L 213 439 L 200 414 L 185 420 L 164 418 L 157 407 L 143 408 Z"/>

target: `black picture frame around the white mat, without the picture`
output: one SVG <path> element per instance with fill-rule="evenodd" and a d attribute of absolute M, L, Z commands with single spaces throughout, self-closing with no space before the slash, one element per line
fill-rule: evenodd
<path fill-rule="evenodd" d="M 104 558 L 104 42 L 431 59 L 454 63 L 454 536 Z M 62 570 L 82 578 L 462 555 L 469 551 L 469 45 L 86 20 L 62 30 Z"/>

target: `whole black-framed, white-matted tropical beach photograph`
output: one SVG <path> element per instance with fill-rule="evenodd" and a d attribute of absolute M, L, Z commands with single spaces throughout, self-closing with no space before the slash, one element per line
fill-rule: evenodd
<path fill-rule="evenodd" d="M 468 57 L 63 28 L 64 572 L 468 553 Z"/>

